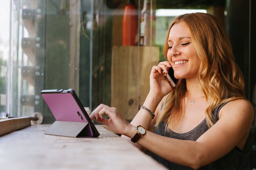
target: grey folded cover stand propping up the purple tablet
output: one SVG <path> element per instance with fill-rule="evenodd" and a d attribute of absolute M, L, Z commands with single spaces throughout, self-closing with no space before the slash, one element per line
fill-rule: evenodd
<path fill-rule="evenodd" d="M 55 121 L 45 134 L 65 137 L 93 137 L 90 124 L 78 121 Z"/>

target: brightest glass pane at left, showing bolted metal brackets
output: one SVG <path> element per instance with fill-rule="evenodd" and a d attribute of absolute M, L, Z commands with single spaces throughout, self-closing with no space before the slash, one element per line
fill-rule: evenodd
<path fill-rule="evenodd" d="M 44 80 L 44 3 L 12 3 L 11 55 L 8 70 L 9 113 L 31 116 L 42 112 L 40 90 Z"/>

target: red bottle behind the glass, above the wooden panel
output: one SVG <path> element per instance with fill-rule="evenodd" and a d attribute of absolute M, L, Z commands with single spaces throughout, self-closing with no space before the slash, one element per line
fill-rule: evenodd
<path fill-rule="evenodd" d="M 137 45 L 136 35 L 138 34 L 138 11 L 134 0 L 128 0 L 124 9 L 123 18 L 123 46 Z"/>

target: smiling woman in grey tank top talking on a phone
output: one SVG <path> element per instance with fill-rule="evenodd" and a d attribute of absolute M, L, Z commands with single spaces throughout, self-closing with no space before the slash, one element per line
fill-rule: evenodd
<path fill-rule="evenodd" d="M 103 104 L 90 117 L 172 170 L 239 169 L 249 154 L 254 111 L 227 34 L 212 15 L 180 15 L 168 30 L 164 56 L 168 61 L 153 66 L 150 91 L 130 124 Z M 164 79 L 170 67 L 179 79 L 174 89 Z"/>

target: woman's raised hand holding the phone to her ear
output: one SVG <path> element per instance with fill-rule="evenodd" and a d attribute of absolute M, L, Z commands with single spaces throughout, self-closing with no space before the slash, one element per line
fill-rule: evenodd
<path fill-rule="evenodd" d="M 171 67 L 170 62 L 160 62 L 158 66 L 153 66 L 150 73 L 150 93 L 153 95 L 165 96 L 173 89 L 164 78 L 164 73 L 168 73 Z"/>

